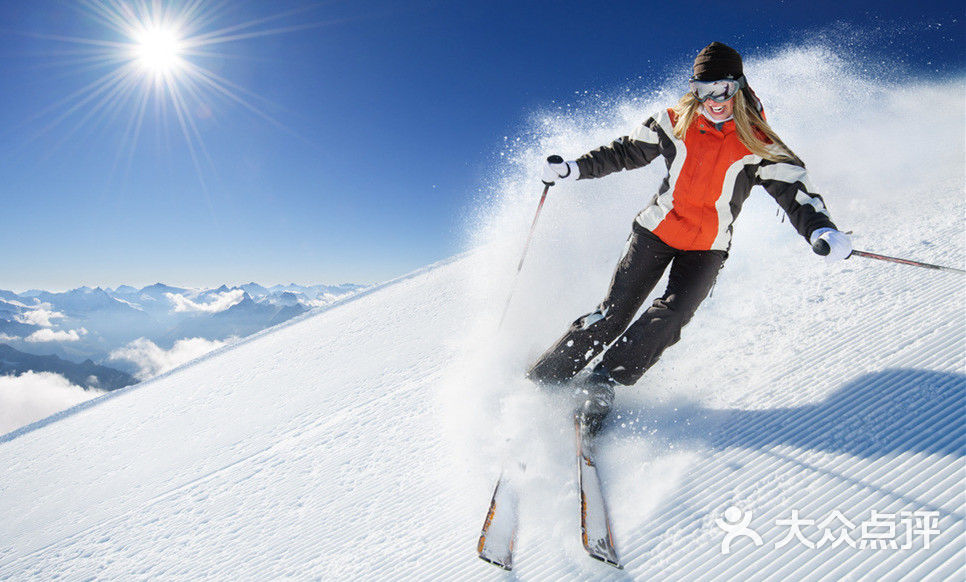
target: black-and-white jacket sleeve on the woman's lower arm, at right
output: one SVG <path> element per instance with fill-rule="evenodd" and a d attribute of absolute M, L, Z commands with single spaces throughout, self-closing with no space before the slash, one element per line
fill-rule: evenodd
<path fill-rule="evenodd" d="M 812 188 L 804 166 L 765 160 L 758 167 L 755 183 L 764 186 L 805 240 L 819 228 L 836 228 L 825 201 Z"/>

